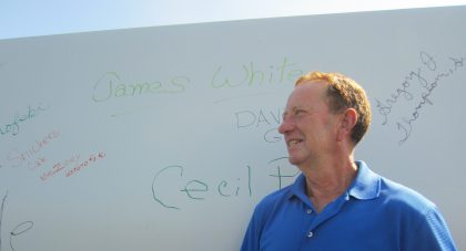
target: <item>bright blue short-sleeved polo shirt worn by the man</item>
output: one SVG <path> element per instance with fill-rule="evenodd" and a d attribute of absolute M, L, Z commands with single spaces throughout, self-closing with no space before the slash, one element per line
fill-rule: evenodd
<path fill-rule="evenodd" d="M 242 251 L 456 250 L 437 207 L 373 172 L 364 161 L 346 192 L 315 213 L 306 181 L 266 196 L 255 208 Z"/>

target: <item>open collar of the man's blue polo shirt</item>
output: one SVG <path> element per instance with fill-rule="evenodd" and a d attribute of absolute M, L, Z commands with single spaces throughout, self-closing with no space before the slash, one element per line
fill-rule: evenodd
<path fill-rule="evenodd" d="M 381 177 L 372 171 L 364 161 L 357 160 L 355 163 L 357 165 L 357 174 L 347 190 L 347 195 L 361 200 L 377 198 L 381 194 Z M 308 200 L 306 195 L 306 177 L 303 174 L 296 178 L 291 187 L 288 198 L 293 196 L 303 201 Z"/>

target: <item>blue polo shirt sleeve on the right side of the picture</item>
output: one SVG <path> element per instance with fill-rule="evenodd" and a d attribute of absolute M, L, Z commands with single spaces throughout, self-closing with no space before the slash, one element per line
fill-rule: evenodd
<path fill-rule="evenodd" d="M 421 220 L 418 228 L 406 241 L 406 251 L 456 251 L 448 227 L 436 207 L 430 208 Z"/>

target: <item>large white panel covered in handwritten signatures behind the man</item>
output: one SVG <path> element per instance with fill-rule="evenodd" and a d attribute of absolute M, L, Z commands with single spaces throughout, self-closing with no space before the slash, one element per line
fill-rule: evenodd
<path fill-rule="evenodd" d="M 463 7 L 0 41 L 2 250 L 237 250 L 253 207 L 280 187 L 277 168 L 295 174 L 275 129 L 296 76 L 314 69 L 367 90 L 374 119 L 356 158 L 435 201 L 464 250 L 466 63 L 453 59 L 466 61 L 465 17 Z M 412 98 L 399 95 L 383 125 L 377 100 L 407 80 Z M 152 91 L 133 93 L 142 83 Z"/>

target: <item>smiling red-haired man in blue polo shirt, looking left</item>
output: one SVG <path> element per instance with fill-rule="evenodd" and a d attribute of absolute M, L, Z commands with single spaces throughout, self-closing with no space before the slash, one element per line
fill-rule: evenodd
<path fill-rule="evenodd" d="M 353 80 L 302 76 L 278 127 L 302 174 L 256 206 L 241 250 L 456 250 L 433 202 L 354 160 L 369 123 L 368 100 Z"/>

